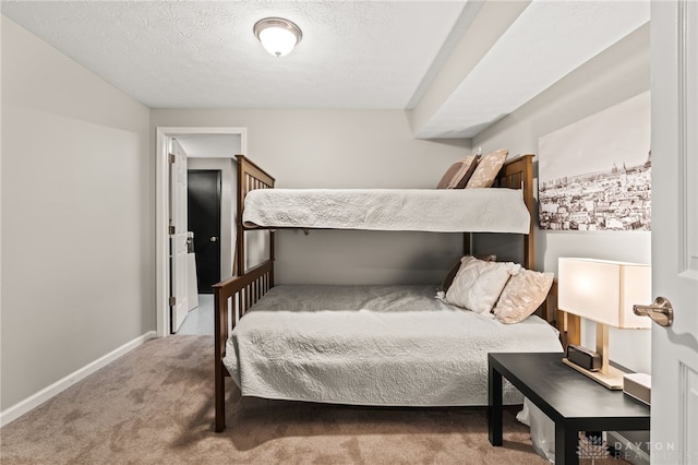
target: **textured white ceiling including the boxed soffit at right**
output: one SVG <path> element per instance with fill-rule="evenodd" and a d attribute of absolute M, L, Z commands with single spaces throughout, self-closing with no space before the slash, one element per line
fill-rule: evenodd
<path fill-rule="evenodd" d="M 421 115 L 412 120 L 418 138 L 476 135 L 649 21 L 649 1 L 3 0 L 0 8 L 151 108 L 412 109 Z M 488 19 L 492 8 L 516 14 Z M 303 31 L 290 55 L 273 57 L 256 41 L 252 27 L 266 16 Z M 473 59 L 468 53 L 483 47 L 476 43 L 483 36 L 468 34 L 477 27 L 502 34 Z"/>

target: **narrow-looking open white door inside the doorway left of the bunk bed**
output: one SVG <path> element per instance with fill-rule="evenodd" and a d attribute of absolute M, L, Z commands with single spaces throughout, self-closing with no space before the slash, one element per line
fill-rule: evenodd
<path fill-rule="evenodd" d="M 172 140 L 170 148 L 170 321 L 171 331 L 176 333 L 189 311 L 186 154 L 176 140 Z"/>

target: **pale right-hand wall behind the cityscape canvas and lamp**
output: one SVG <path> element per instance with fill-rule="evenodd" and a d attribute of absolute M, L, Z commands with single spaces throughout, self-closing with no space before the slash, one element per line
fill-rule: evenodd
<path fill-rule="evenodd" d="M 643 26 L 483 131 L 473 139 L 473 146 L 485 150 L 507 147 L 512 153 L 538 153 L 540 136 L 649 88 L 650 36 L 649 26 Z M 559 257 L 650 263 L 650 238 L 651 233 L 537 229 L 537 269 L 556 273 Z M 594 346 L 593 324 L 585 324 L 582 337 L 585 345 Z M 650 372 L 650 344 L 649 331 L 612 330 L 611 359 L 630 369 Z"/>

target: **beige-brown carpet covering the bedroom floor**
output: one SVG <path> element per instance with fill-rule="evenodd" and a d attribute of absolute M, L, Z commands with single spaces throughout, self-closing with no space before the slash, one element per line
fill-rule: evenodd
<path fill-rule="evenodd" d="M 0 429 L 2 464 L 544 464 L 528 427 L 486 408 L 352 407 L 241 397 L 213 431 L 210 336 L 152 339 Z"/>

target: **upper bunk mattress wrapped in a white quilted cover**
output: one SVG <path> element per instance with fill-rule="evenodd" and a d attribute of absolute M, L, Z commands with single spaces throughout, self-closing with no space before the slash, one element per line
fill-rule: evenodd
<path fill-rule="evenodd" d="M 256 189 L 248 228 L 321 228 L 528 234 L 518 189 Z"/>

